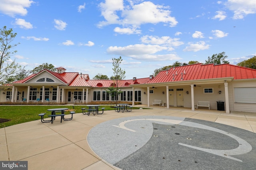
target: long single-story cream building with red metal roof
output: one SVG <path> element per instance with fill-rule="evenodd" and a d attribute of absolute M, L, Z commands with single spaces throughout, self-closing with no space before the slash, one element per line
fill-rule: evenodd
<path fill-rule="evenodd" d="M 151 106 L 188 107 L 194 110 L 198 102 L 210 102 L 209 109 L 256 113 L 256 70 L 232 64 L 191 64 L 160 71 L 155 77 L 130 80 L 91 80 L 88 74 L 56 72 L 44 69 L 23 80 L 2 86 L 0 102 L 58 103 L 116 100 L 107 92 L 118 86 L 122 92 L 118 101 L 141 102 Z"/>

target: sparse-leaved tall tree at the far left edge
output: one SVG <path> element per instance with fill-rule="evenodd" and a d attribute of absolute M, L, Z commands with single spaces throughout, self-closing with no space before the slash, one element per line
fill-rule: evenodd
<path fill-rule="evenodd" d="M 22 69 L 20 65 L 15 63 L 15 59 L 11 61 L 10 57 L 17 53 L 16 50 L 12 51 L 18 44 L 13 44 L 14 38 L 17 33 L 12 33 L 12 29 L 6 29 L 4 26 L 0 29 L 0 84 L 6 83 L 10 76 Z"/>

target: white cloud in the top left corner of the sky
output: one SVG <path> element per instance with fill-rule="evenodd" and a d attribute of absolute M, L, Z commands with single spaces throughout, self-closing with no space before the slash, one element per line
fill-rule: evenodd
<path fill-rule="evenodd" d="M 16 15 L 26 16 L 32 0 L 0 0 L 0 12 L 8 16 L 14 17 Z"/>

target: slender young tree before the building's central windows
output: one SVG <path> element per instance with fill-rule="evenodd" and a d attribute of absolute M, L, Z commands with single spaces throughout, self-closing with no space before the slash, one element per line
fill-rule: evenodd
<path fill-rule="evenodd" d="M 118 85 L 120 84 L 120 83 L 118 84 L 118 80 L 122 80 L 125 78 L 125 70 L 122 70 L 122 68 L 120 67 L 120 64 L 123 61 L 121 56 L 117 59 L 116 58 L 112 59 L 112 61 L 113 61 L 112 64 L 114 67 L 114 68 L 112 68 L 113 73 L 114 73 L 114 76 L 112 76 L 112 77 L 116 78 L 115 80 L 113 80 L 114 81 L 113 84 L 115 84 L 115 86 L 112 86 L 114 88 L 114 90 L 112 90 L 112 92 L 110 92 L 110 91 L 107 91 L 107 92 L 109 92 L 109 94 L 111 94 L 111 95 L 113 94 L 116 96 L 116 105 L 117 105 L 117 96 L 122 93 L 122 92 L 120 92 L 120 89 L 118 88 Z"/>

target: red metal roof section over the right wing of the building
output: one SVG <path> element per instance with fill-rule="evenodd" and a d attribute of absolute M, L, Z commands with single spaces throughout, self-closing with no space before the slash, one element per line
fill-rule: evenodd
<path fill-rule="evenodd" d="M 234 80 L 256 78 L 256 70 L 232 64 L 191 64 L 160 71 L 148 83 L 178 82 L 233 77 Z M 174 78 L 174 80 L 173 80 Z M 182 79 L 183 78 L 183 79 Z"/>

